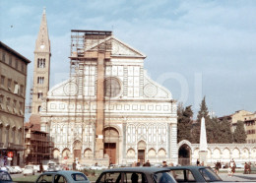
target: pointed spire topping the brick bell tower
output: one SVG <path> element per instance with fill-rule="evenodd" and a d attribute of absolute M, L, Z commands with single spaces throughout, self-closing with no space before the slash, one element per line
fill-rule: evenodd
<path fill-rule="evenodd" d="M 50 53 L 50 41 L 49 41 L 49 35 L 48 35 L 45 7 L 43 7 L 40 28 L 37 35 L 37 39 L 35 41 L 34 51 Z"/>

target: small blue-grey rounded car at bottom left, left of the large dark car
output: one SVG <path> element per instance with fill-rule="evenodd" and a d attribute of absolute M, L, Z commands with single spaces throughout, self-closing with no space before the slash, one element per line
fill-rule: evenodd
<path fill-rule="evenodd" d="M 40 174 L 35 183 L 90 183 L 90 180 L 84 173 L 79 171 L 62 170 L 62 171 L 47 171 Z"/>

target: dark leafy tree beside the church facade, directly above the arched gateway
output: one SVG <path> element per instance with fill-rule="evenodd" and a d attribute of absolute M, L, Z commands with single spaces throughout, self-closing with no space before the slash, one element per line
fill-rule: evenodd
<path fill-rule="evenodd" d="M 193 111 L 191 105 L 185 109 L 178 107 L 178 124 L 177 124 L 177 141 L 188 140 L 191 142 L 191 128 L 192 128 L 192 117 Z"/>

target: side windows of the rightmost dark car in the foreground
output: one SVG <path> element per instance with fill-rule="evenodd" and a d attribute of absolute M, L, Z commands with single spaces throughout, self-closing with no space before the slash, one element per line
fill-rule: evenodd
<path fill-rule="evenodd" d="M 177 182 L 196 182 L 194 175 L 188 169 L 170 170 L 170 174 Z"/>

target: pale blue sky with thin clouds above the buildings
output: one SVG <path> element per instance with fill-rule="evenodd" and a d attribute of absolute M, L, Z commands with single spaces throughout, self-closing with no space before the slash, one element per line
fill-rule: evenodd
<path fill-rule="evenodd" d="M 112 30 L 194 117 L 204 96 L 217 116 L 256 111 L 254 0 L 0 0 L 0 40 L 32 61 L 27 91 L 43 7 L 50 88 L 69 76 L 71 30 Z"/>

